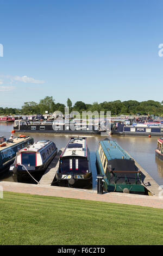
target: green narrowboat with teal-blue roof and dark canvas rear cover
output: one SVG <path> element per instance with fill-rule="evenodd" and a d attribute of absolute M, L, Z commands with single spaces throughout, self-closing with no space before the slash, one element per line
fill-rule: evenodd
<path fill-rule="evenodd" d="M 145 194 L 135 161 L 115 141 L 99 142 L 96 159 L 99 173 L 104 175 L 105 191 Z"/>

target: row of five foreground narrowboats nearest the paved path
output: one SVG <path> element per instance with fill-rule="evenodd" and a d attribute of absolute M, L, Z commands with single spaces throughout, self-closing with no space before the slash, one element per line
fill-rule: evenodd
<path fill-rule="evenodd" d="M 10 170 L 17 182 L 37 181 L 57 153 L 58 148 L 52 141 L 34 142 L 32 137 L 25 135 L 6 140 L 1 136 L 0 174 Z M 155 154 L 163 159 L 163 138 L 158 139 Z M 85 137 L 70 138 L 58 161 L 55 185 L 79 188 L 91 186 L 90 152 Z M 105 191 L 146 193 L 140 170 L 115 141 L 104 139 L 99 142 L 96 163 L 98 174 L 103 175 Z"/>

